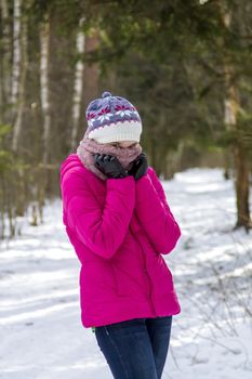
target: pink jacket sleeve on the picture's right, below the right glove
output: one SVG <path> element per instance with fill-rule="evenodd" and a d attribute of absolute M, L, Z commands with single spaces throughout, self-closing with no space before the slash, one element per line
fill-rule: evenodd
<path fill-rule="evenodd" d="M 167 202 L 165 193 L 149 167 L 146 175 L 136 181 L 135 210 L 157 252 L 172 251 L 181 236 L 181 230 Z"/>

